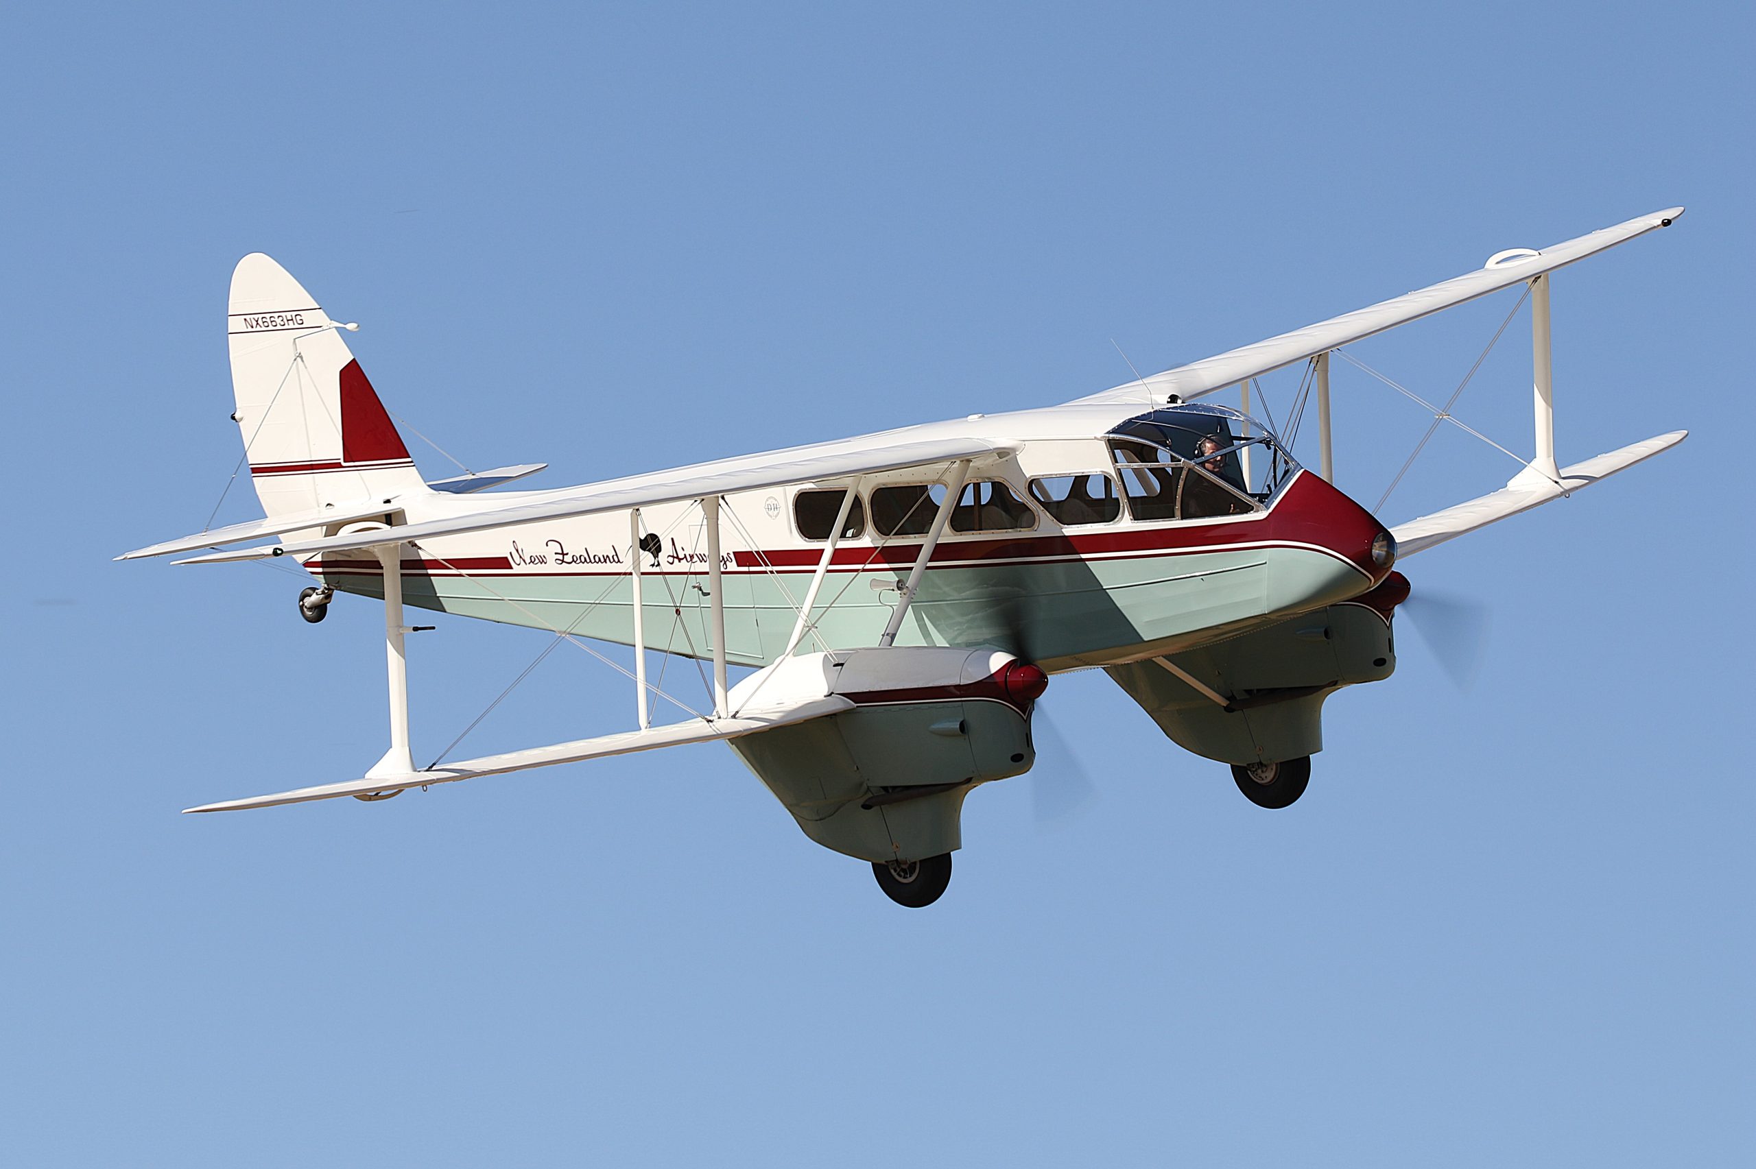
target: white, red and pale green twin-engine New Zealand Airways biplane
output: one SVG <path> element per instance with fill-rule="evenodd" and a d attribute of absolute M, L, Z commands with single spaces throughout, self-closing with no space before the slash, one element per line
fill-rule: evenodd
<path fill-rule="evenodd" d="M 265 255 L 232 274 L 227 341 L 263 518 L 121 556 L 281 558 L 381 599 L 390 748 L 356 779 L 190 807 L 355 797 L 723 741 L 808 837 L 934 902 L 964 799 L 1027 772 L 1054 674 L 1099 667 L 1180 748 L 1263 807 L 1305 792 L 1322 707 L 1396 669 L 1408 556 L 1568 497 L 1686 437 L 1556 462 L 1552 274 L 1670 226 L 1680 207 L 1484 267 L 1241 349 L 1050 405 L 560 490 L 493 490 L 537 465 L 425 481 L 335 321 Z M 1535 441 L 1500 490 L 1387 527 L 1333 484 L 1329 365 L 1345 346 L 1524 288 Z M 1514 309 L 1517 312 L 1517 307 Z M 1319 469 L 1252 416 L 1301 367 Z M 1236 391 L 1240 405 L 1220 404 Z M 1426 404 L 1438 421 L 1456 421 Z M 1507 449 L 1507 448 L 1501 448 Z M 248 544 L 244 548 L 230 548 Z M 209 551 L 202 551 L 209 549 Z M 407 607 L 632 649 L 630 730 L 416 767 Z M 430 628 L 430 627 L 428 627 Z M 650 671 L 694 658 L 702 697 Z M 606 658 L 609 660 L 609 658 Z M 623 658 L 627 660 L 627 658 Z M 732 669 L 748 671 L 732 679 Z M 709 678 L 711 671 L 711 678 Z M 673 721 L 657 706 L 676 707 Z"/>

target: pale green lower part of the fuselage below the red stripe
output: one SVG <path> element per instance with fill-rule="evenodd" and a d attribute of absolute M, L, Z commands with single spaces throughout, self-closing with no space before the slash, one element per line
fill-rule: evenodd
<path fill-rule="evenodd" d="M 802 649 L 876 644 L 906 569 L 829 572 Z M 810 570 L 727 570 L 725 651 L 766 665 L 787 646 Z M 330 574 L 381 597 L 376 576 Z M 931 567 L 896 644 L 992 646 L 1055 672 L 1177 653 L 1363 592 L 1370 581 L 1305 548 L 1229 548 L 1171 556 Z M 650 649 L 711 656 L 706 574 L 643 577 Z M 627 570 L 555 576 L 427 574 L 404 569 L 404 600 L 509 625 L 632 644 Z"/>

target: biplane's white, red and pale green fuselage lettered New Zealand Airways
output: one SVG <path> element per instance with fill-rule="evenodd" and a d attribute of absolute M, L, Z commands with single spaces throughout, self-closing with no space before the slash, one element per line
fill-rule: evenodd
<path fill-rule="evenodd" d="M 1315 474 L 1289 469 L 1284 458 L 1277 490 L 1263 493 L 1254 507 L 1234 497 L 1236 511 L 1220 516 L 1138 518 L 1150 514 L 1157 500 L 1141 498 L 1134 488 L 1152 484 L 1150 474 L 1168 476 L 1157 469 L 1119 472 L 1110 435 L 1147 411 L 1152 407 L 1020 411 L 848 441 L 890 446 L 985 439 L 1015 451 L 969 472 L 969 504 L 954 511 L 939 537 L 896 644 L 996 646 L 1050 672 L 1110 665 L 1345 600 L 1385 576 L 1389 565 L 1371 562 L 1371 541 L 1382 527 Z M 1206 416 L 1238 428 L 1241 416 L 1229 414 Z M 1252 430 L 1264 437 L 1261 425 Z M 1127 441 L 1124 449 L 1133 448 L 1136 442 Z M 1085 491 L 1090 502 L 1054 498 L 1069 479 L 1089 486 L 1099 476 L 1098 490 Z M 878 642 L 943 498 L 945 477 L 943 463 L 860 477 L 852 521 L 843 527 L 813 606 L 806 634 L 811 648 Z M 887 500 L 908 500 L 910 488 L 927 484 L 932 490 L 910 521 L 885 523 L 906 514 L 906 507 L 894 506 L 887 513 Z M 978 504 L 996 495 L 992 484 L 1004 486 L 1004 504 Z M 766 665 L 787 649 L 841 490 L 785 484 L 723 497 L 720 569 L 725 653 L 732 663 Z M 546 495 L 504 491 L 495 502 L 541 502 Z M 432 493 L 406 500 L 406 518 L 411 525 L 443 521 L 479 506 L 479 497 Z M 808 527 L 813 518 L 822 527 L 808 535 L 801 521 Z M 650 534 L 641 553 L 646 644 L 711 656 L 701 509 L 690 502 L 646 507 L 643 528 Z M 622 514 L 423 541 L 404 555 L 404 600 L 630 644 L 630 544 Z M 311 558 L 307 567 L 342 592 L 383 592 L 383 570 L 372 556 L 341 553 Z"/>

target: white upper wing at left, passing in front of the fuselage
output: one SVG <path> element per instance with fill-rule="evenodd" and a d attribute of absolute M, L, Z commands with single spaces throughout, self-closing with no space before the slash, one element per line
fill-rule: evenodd
<path fill-rule="evenodd" d="M 592 516 L 604 511 L 627 511 L 630 507 L 657 507 L 678 500 L 702 498 L 709 495 L 730 495 L 736 491 L 760 491 L 764 488 L 785 486 L 788 483 L 810 483 L 822 479 L 845 479 L 848 476 L 878 474 L 904 467 L 925 467 L 946 463 L 959 458 L 1004 456 L 1015 453 L 1017 444 L 992 439 L 932 439 L 922 442 L 899 442 L 896 446 L 860 446 L 857 442 L 834 442 L 825 446 L 797 448 L 794 451 L 774 451 L 771 455 L 748 455 L 716 463 L 699 463 L 678 470 L 660 470 L 655 474 L 632 476 L 627 479 L 608 479 L 585 486 L 544 491 L 527 497 L 525 502 L 511 507 L 486 507 L 444 520 L 427 520 L 421 523 L 404 523 L 390 528 L 376 528 L 355 535 L 332 535 L 327 539 L 297 541 L 291 544 L 272 544 L 262 548 L 241 548 L 230 553 L 211 556 L 191 556 L 179 563 L 216 563 L 221 560 L 260 560 L 263 556 L 313 556 L 351 548 L 372 548 L 378 544 L 399 544 L 406 541 L 435 539 L 441 535 L 462 535 L 464 532 L 485 532 L 516 523 L 534 523 L 537 520 L 567 520 L 572 516 Z"/>

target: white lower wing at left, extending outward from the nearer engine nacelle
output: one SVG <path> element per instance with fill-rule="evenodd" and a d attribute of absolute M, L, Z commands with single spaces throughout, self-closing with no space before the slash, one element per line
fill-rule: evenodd
<path fill-rule="evenodd" d="M 629 730 L 616 735 L 599 735 L 595 739 L 574 739 L 572 742 L 557 742 L 553 746 L 529 748 L 523 751 L 507 751 L 504 755 L 485 755 L 481 758 L 469 758 L 460 764 L 450 764 L 446 767 L 435 767 L 432 771 L 416 771 L 406 776 L 379 776 L 376 779 L 349 779 L 346 783 L 328 783 L 316 788 L 293 788 L 291 792 L 276 792 L 272 795 L 253 795 L 242 800 L 225 800 L 220 804 L 202 804 L 200 807 L 184 807 L 186 813 L 197 811 L 239 811 L 244 807 L 274 807 L 277 804 L 304 804 L 307 800 L 332 800 L 339 795 L 374 795 L 388 792 L 402 792 L 404 788 L 423 788 L 430 783 L 455 783 L 458 779 L 474 779 L 478 776 L 500 776 L 511 771 L 529 771 L 532 767 L 553 767 L 555 764 L 578 764 L 588 758 L 606 758 L 609 755 L 630 755 L 634 751 L 651 751 L 667 746 L 683 746 L 687 742 L 716 742 L 720 739 L 738 739 L 741 735 L 750 735 L 759 730 L 771 730 L 774 727 L 790 727 L 792 723 L 804 723 L 813 718 L 824 718 L 825 714 L 839 714 L 841 711 L 852 709 L 853 702 L 838 695 L 829 695 L 824 699 L 811 699 L 799 702 L 795 706 L 787 706 L 773 711 L 748 711 L 738 718 L 720 718 L 708 720 L 697 718 L 687 723 L 671 723 L 669 727 L 650 727 L 646 730 Z"/>

